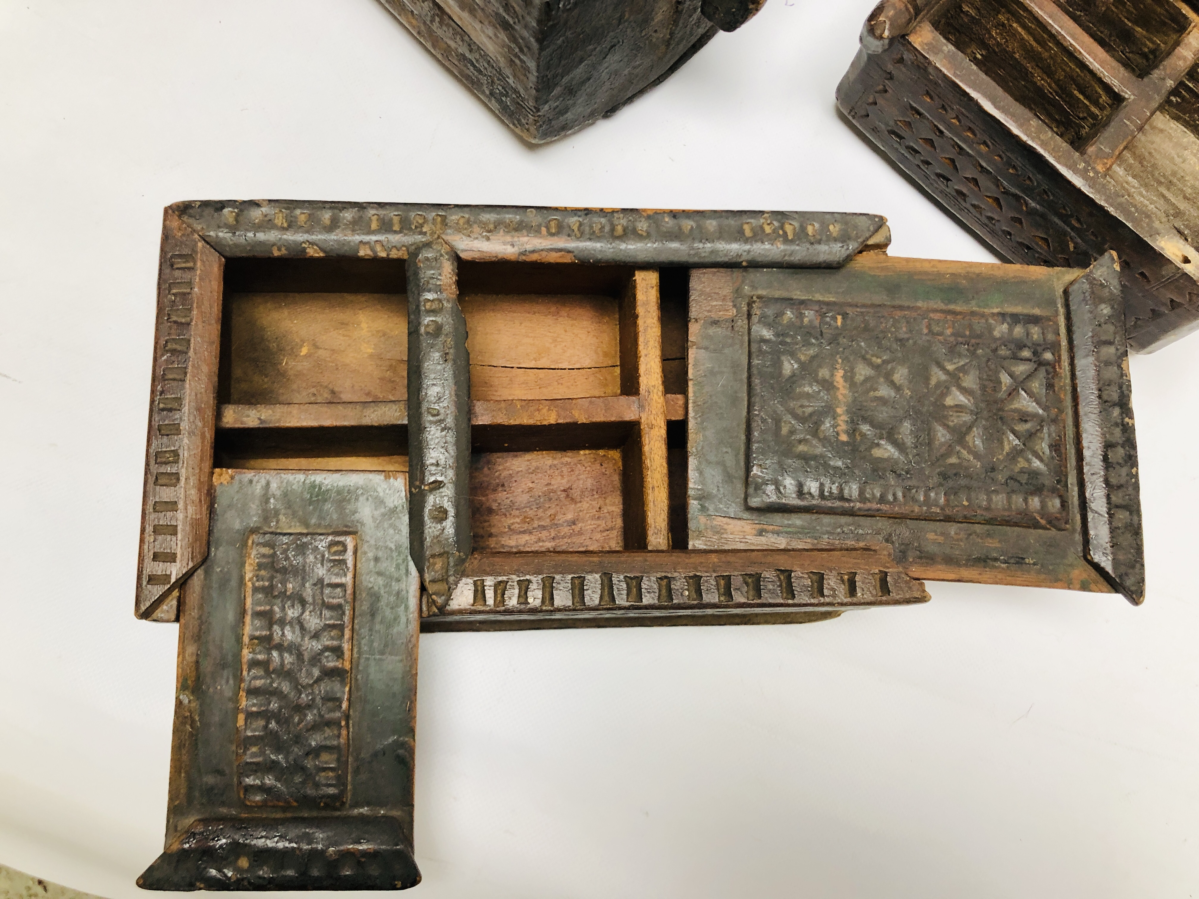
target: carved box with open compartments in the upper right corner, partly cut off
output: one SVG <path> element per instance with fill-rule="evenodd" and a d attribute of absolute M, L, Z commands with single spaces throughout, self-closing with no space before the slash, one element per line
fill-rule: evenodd
<path fill-rule="evenodd" d="M 838 102 L 1006 259 L 1116 251 L 1147 351 L 1199 324 L 1197 22 L 1187 0 L 886 0 Z"/>

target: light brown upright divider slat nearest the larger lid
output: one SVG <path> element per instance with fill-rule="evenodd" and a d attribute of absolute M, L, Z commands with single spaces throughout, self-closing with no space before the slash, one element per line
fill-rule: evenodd
<path fill-rule="evenodd" d="M 670 549 L 667 400 L 662 379 L 662 312 L 657 271 L 639 270 L 633 276 L 629 290 L 637 309 L 637 380 L 641 402 L 645 548 Z"/>

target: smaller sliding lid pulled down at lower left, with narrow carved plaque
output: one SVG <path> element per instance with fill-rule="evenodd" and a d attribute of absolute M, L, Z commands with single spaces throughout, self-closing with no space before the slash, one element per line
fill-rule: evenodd
<path fill-rule="evenodd" d="M 219 470 L 182 591 L 149 889 L 414 886 L 418 579 L 403 475 Z"/>

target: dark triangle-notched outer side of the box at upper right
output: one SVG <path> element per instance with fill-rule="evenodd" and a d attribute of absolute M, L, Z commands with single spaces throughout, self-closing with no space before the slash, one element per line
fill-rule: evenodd
<path fill-rule="evenodd" d="M 1119 246 L 1134 345 L 1149 322 L 1156 331 L 1159 319 L 1199 306 L 1194 280 L 1049 170 L 905 42 L 868 59 L 838 91 L 846 115 L 1008 261 L 1086 269 Z"/>

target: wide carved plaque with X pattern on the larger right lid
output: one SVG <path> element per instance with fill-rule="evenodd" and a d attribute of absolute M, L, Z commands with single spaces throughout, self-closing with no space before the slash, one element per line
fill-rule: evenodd
<path fill-rule="evenodd" d="M 747 505 L 1070 524 L 1054 318 L 755 297 Z"/>

